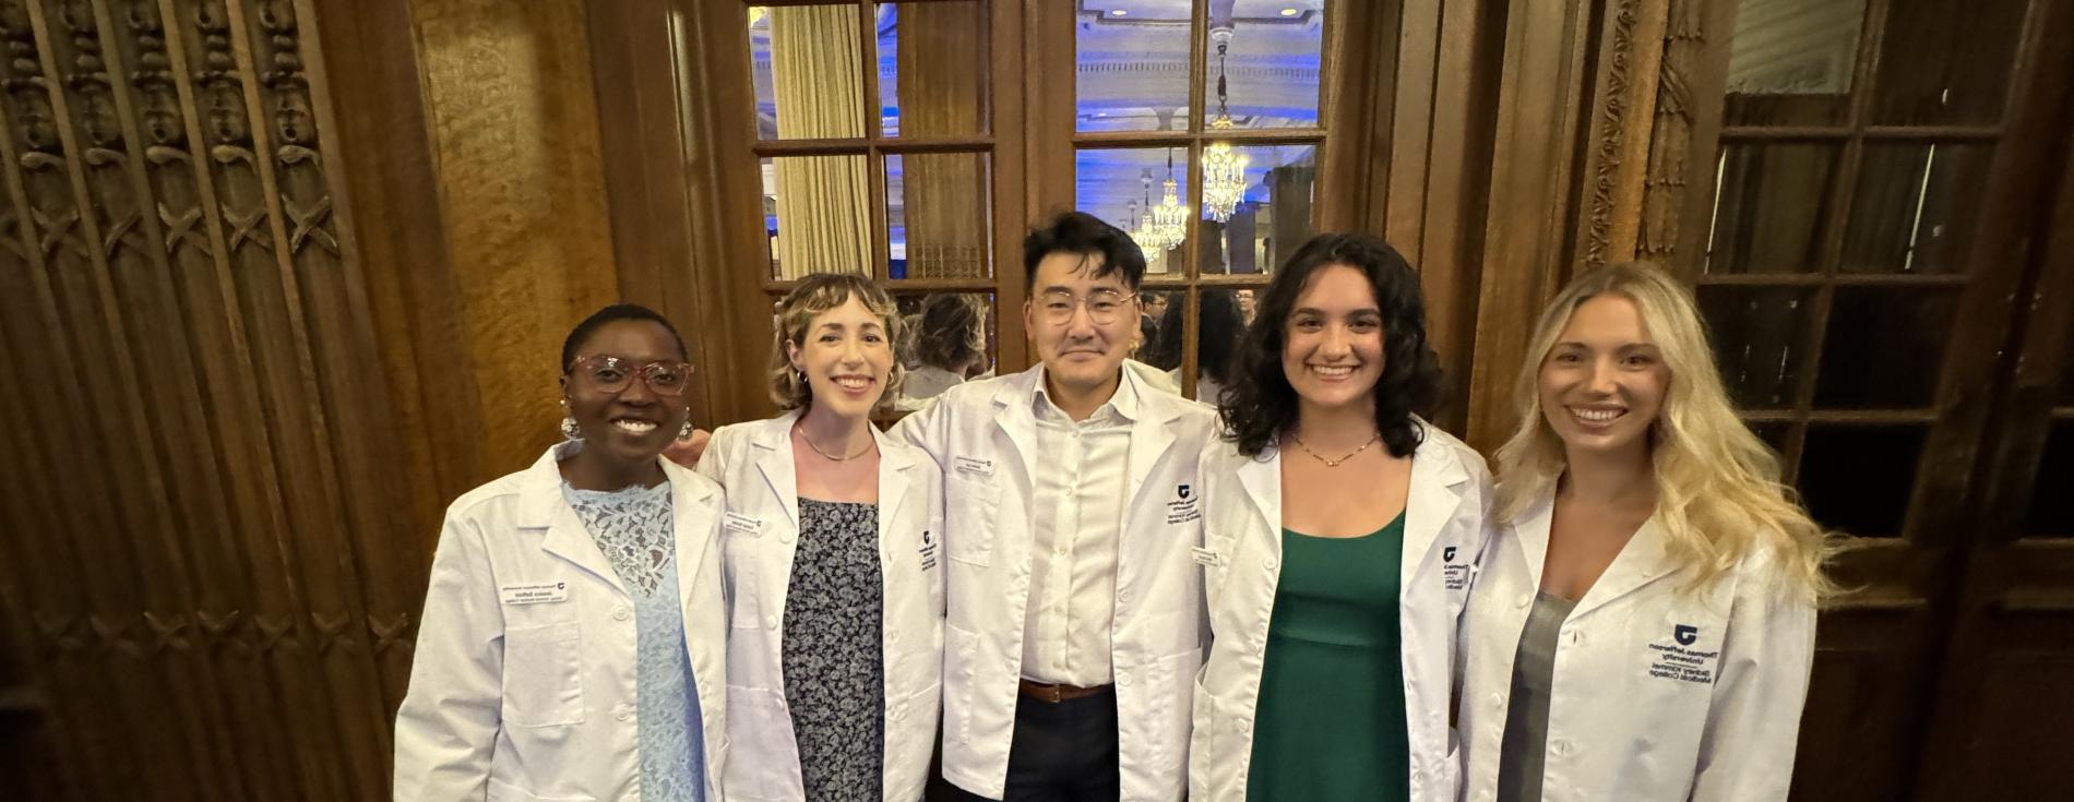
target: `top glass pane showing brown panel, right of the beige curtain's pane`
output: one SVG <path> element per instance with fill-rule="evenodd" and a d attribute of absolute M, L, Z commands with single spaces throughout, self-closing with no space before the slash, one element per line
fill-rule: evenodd
<path fill-rule="evenodd" d="M 879 6 L 879 99 L 888 137 L 987 133 L 987 8 L 979 2 Z"/>

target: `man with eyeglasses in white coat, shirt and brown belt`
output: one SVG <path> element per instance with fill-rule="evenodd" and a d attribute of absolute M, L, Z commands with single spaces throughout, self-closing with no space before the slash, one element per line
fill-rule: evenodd
<path fill-rule="evenodd" d="M 1068 211 L 1022 240 L 1041 365 L 894 433 L 944 468 L 944 779 L 960 798 L 1178 800 L 1203 659 L 1209 406 L 1124 369 L 1145 255 Z"/>

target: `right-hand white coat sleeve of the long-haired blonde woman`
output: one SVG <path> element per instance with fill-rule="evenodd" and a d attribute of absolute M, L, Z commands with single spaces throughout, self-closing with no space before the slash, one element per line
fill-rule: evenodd
<path fill-rule="evenodd" d="M 1757 580 L 1765 574 L 1738 582 L 1692 800 L 1784 800 L 1792 785 L 1815 665 L 1815 603 Z"/>

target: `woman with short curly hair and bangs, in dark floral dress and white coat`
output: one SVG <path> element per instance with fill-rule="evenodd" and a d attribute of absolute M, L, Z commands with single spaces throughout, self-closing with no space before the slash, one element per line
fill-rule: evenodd
<path fill-rule="evenodd" d="M 944 475 L 871 412 L 900 392 L 902 319 L 863 276 L 778 305 L 772 398 L 722 427 L 699 472 L 732 487 L 730 800 L 921 798 L 944 653 Z"/>

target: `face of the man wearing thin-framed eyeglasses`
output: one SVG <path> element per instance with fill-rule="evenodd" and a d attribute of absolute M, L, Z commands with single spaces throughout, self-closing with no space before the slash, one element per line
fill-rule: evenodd
<path fill-rule="evenodd" d="M 1137 303 L 1124 278 L 1093 278 L 1101 255 L 1052 253 L 1037 263 L 1022 323 L 1037 342 L 1045 375 L 1081 392 L 1118 381 L 1139 334 Z"/>

